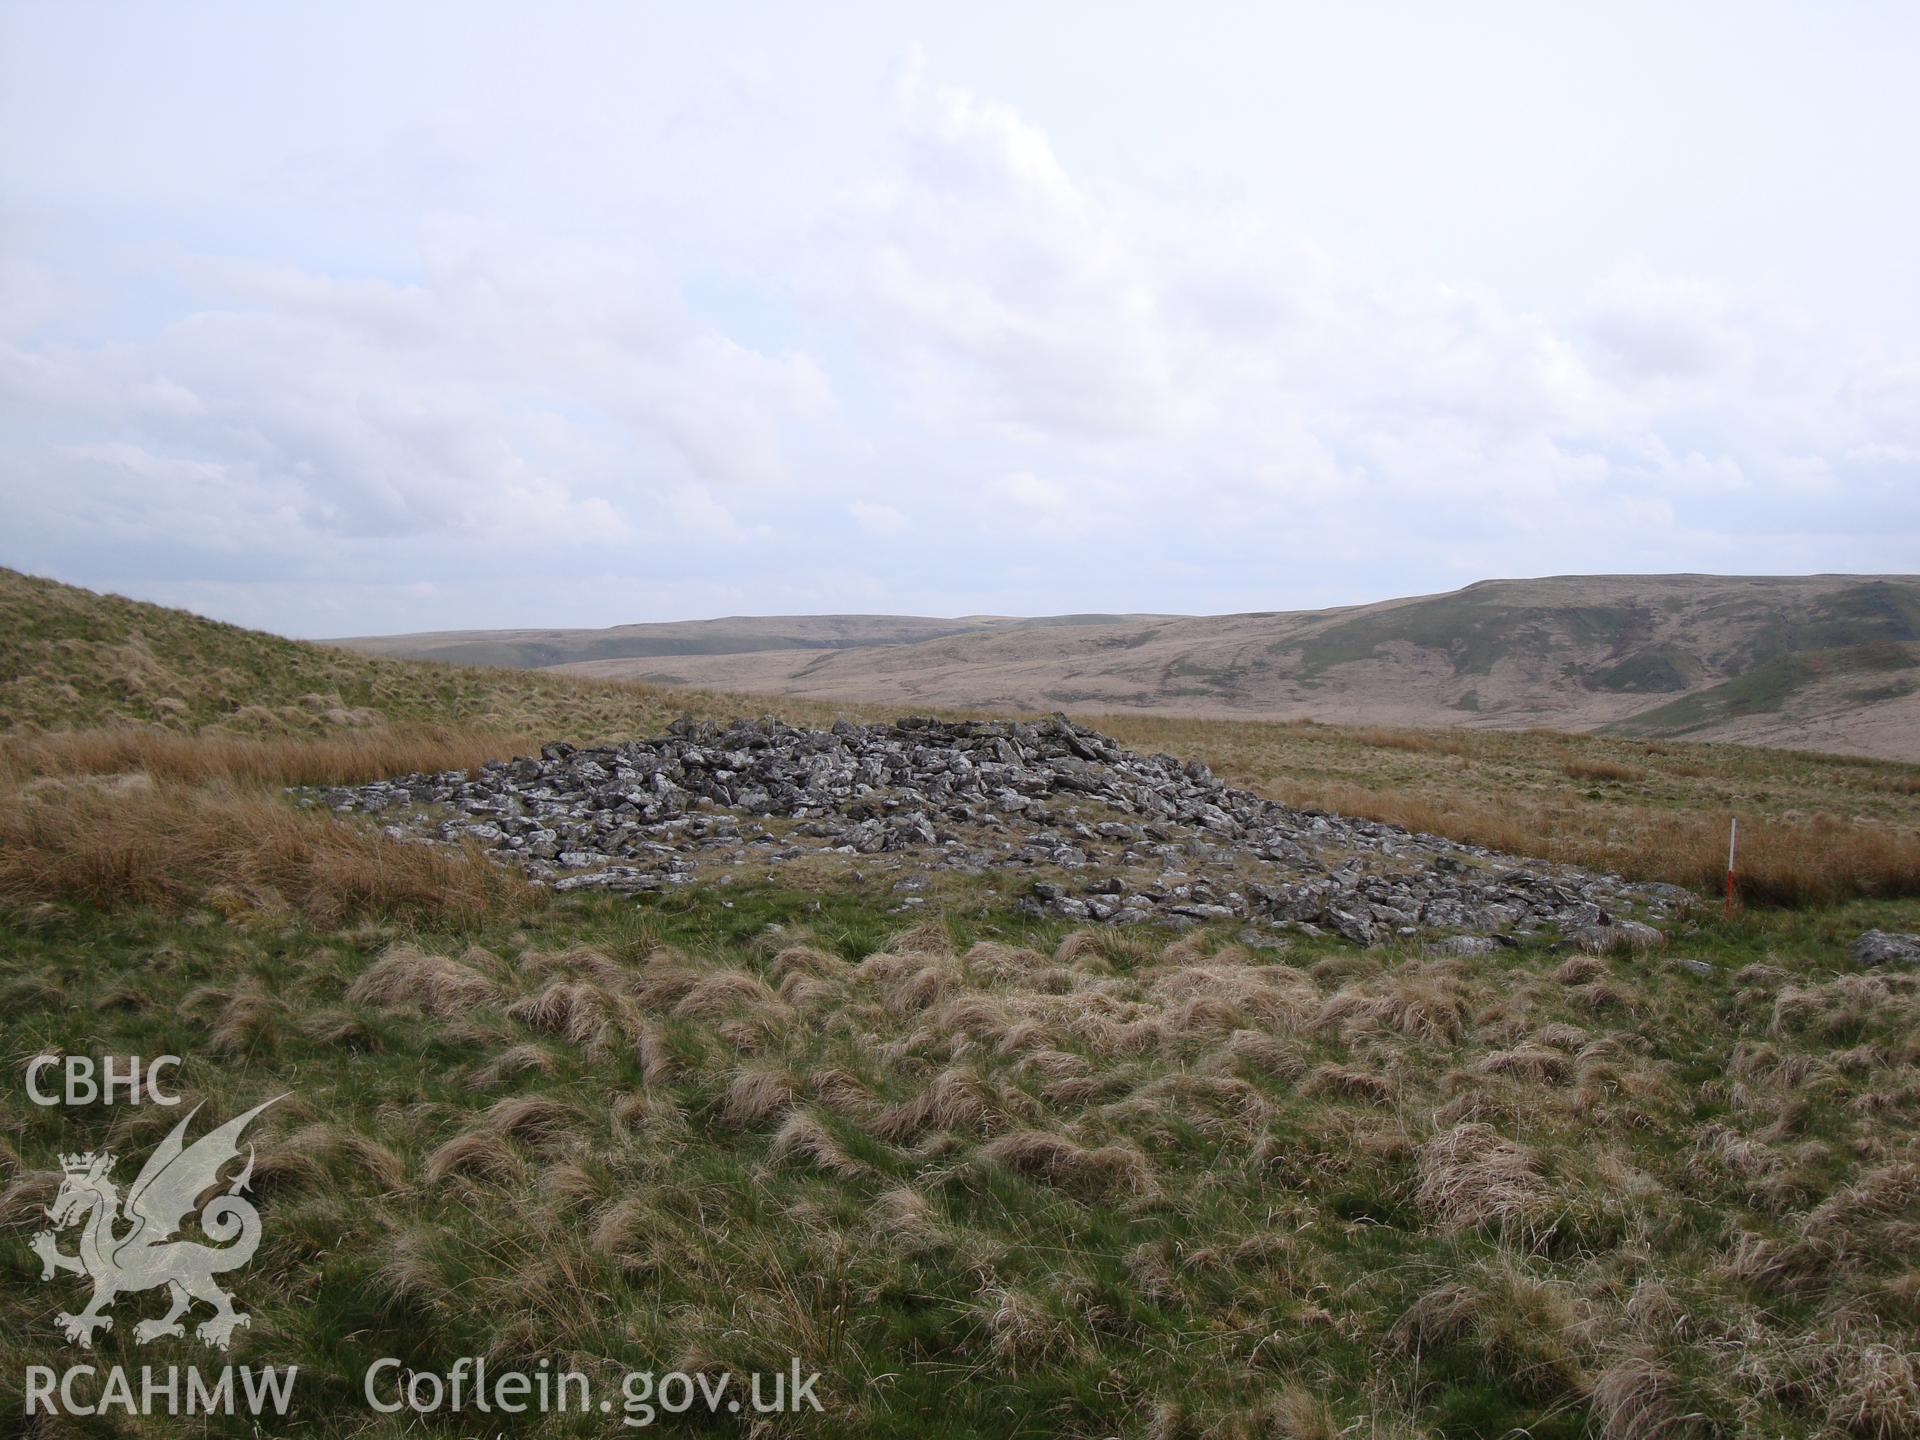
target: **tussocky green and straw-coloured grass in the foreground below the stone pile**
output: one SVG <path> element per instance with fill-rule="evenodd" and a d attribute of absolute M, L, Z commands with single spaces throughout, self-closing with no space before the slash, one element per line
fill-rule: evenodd
<path fill-rule="evenodd" d="M 799 1356 L 826 1377 L 804 1434 L 1486 1440 L 1630 1434 L 1617 1390 L 1645 1357 L 1630 1390 L 1663 1434 L 1891 1438 L 1899 1394 L 1836 1415 L 1870 1346 L 1908 1373 L 1920 1346 L 1920 1212 L 1885 1190 L 1920 1164 L 1920 977 L 1874 991 L 1839 945 L 1914 922 L 1705 918 L 1674 945 L 1699 977 L 1062 945 L 979 906 L 902 935 L 851 891 L 572 897 L 420 941 L 492 985 L 438 1002 L 355 989 L 401 925 L 38 906 L 0 916 L 0 1048 L 182 1054 L 209 1117 L 292 1092 L 259 1125 L 232 1354 L 301 1367 L 288 1434 L 401 1434 L 367 1428 L 367 1363 L 488 1354 L 597 1380 Z M 870 954 L 893 958 L 849 970 Z M 943 1085 L 958 1102 L 902 1119 Z M 96 1146 L 131 1173 L 177 1117 L 4 1114 L 27 1175 Z M 1498 1215 L 1442 1154 L 1461 1125 L 1530 1158 Z M 1069 1142 L 1064 1169 L 996 1148 L 1031 1131 Z M 1891 1198 L 1820 1210 L 1862 1183 Z M 8 1407 L 23 1365 L 65 1363 L 50 1319 L 81 1298 L 36 1279 L 35 1196 L 15 1185 L 0 1235 Z M 102 1363 L 207 1363 L 134 1348 L 150 1309 L 119 1304 Z"/>

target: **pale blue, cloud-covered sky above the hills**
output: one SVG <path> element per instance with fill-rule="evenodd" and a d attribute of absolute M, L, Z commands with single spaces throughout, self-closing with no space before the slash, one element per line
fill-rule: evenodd
<path fill-rule="evenodd" d="M 292 636 L 1920 570 L 1910 4 L 0 0 L 0 564 Z"/>

